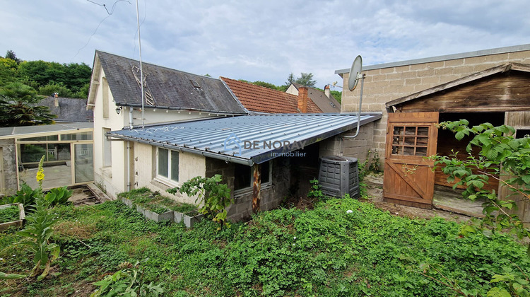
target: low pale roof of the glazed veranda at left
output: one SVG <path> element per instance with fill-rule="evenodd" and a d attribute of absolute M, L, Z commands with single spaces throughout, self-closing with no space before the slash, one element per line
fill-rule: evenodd
<path fill-rule="evenodd" d="M 57 134 L 59 132 L 75 131 L 78 129 L 93 128 L 94 123 L 68 123 L 68 124 L 44 124 L 41 126 L 22 126 L 22 127 L 6 127 L 0 128 L 0 139 L 18 137 L 21 135 L 27 136 L 29 134 L 50 133 Z"/>

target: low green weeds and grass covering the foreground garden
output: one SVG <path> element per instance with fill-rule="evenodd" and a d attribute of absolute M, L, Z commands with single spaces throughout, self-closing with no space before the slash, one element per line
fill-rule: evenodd
<path fill-rule="evenodd" d="M 89 294 L 125 261 L 141 261 L 145 281 L 169 296 L 454 296 L 420 274 L 422 263 L 438 271 L 426 274 L 485 296 L 503 268 L 530 271 L 526 248 L 508 235 L 463 237 L 457 223 L 391 216 L 355 199 L 266 211 L 219 232 L 211 221 L 192 229 L 148 221 L 119 201 L 52 211 L 61 246 L 52 273 L 40 283 L 9 281 L 0 296 Z M 1 272 L 33 267 L 17 240 L 0 234 Z"/>

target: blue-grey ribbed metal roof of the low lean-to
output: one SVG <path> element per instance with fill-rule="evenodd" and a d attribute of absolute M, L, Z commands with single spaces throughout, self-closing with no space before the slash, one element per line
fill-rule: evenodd
<path fill-rule="evenodd" d="M 360 124 L 379 120 L 381 116 L 381 113 L 363 114 Z M 355 129 L 357 120 L 357 114 L 345 113 L 246 115 L 123 129 L 109 135 L 252 165 L 276 158 L 275 153 L 295 151 L 302 144 L 308 146 Z M 284 141 L 289 146 L 283 146 Z M 257 147 L 245 148 L 245 144 L 251 143 Z"/>

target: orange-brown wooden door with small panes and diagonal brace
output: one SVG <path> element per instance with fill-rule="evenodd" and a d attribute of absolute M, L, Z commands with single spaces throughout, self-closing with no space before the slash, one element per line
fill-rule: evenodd
<path fill-rule="evenodd" d="M 434 192 L 434 161 L 438 112 L 389 113 L 384 158 L 385 202 L 430 208 Z"/>

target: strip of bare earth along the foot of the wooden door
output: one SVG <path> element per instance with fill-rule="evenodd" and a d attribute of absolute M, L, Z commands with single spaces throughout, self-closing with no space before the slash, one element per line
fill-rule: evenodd
<path fill-rule="evenodd" d="M 394 203 L 383 202 L 383 174 L 370 173 L 363 180 L 367 185 L 367 194 L 378 209 L 389 211 L 394 216 L 406 216 L 411 219 L 431 219 L 436 216 L 450 221 L 468 221 L 469 216 L 454 214 L 449 211 L 437 209 L 418 209 L 416 207 L 404 206 Z"/>

